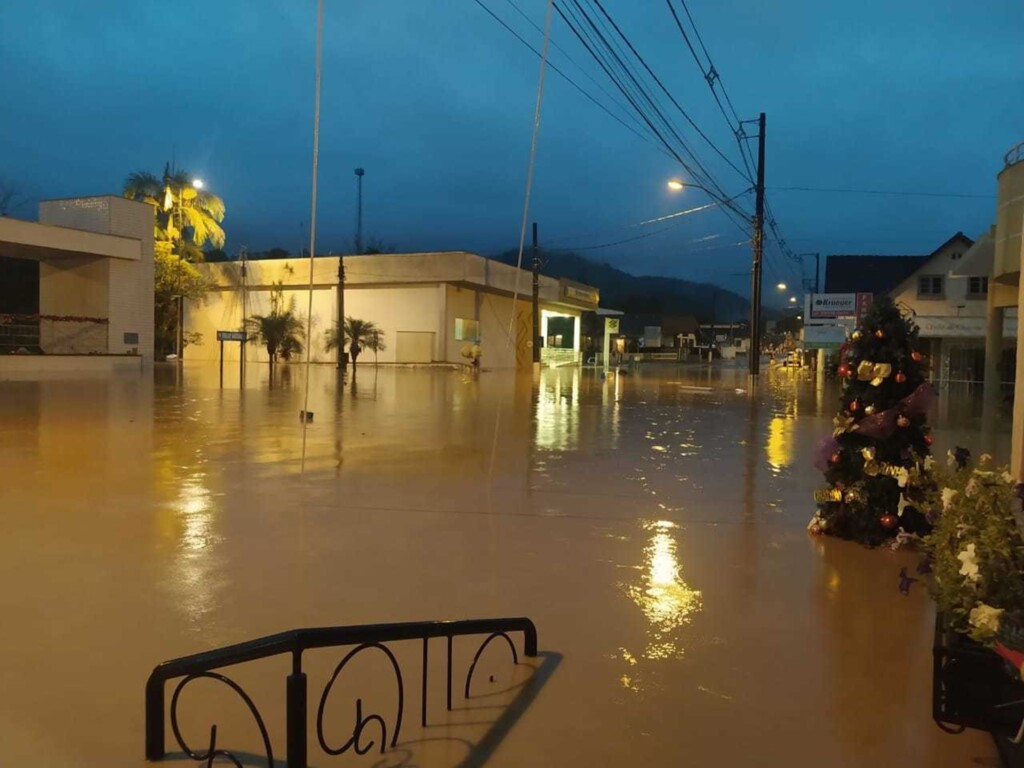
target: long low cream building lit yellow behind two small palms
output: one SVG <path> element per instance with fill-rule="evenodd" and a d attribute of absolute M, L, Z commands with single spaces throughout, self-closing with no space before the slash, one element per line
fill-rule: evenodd
<path fill-rule="evenodd" d="M 325 334 L 338 322 L 339 257 L 313 260 L 313 362 L 335 362 L 325 351 Z M 266 314 L 275 285 L 285 301 L 306 317 L 309 260 L 202 264 L 215 288 L 206 301 L 189 302 L 185 330 L 202 334 L 200 345 L 185 349 L 186 359 L 217 359 L 217 331 L 238 330 L 244 317 Z M 481 365 L 492 369 L 529 368 L 532 308 L 531 275 L 525 270 L 462 251 L 344 257 L 345 316 L 372 321 L 384 332 L 382 364 L 465 364 L 463 351 L 479 344 Z M 518 299 L 513 305 L 513 295 Z M 598 304 L 597 289 L 541 278 L 542 361 L 549 366 L 580 361 L 583 311 Z M 248 344 L 246 359 L 266 360 L 266 350 Z M 238 345 L 225 347 L 224 359 L 238 360 Z M 371 352 L 360 358 L 368 361 Z M 372 359 L 372 356 L 370 357 Z"/>

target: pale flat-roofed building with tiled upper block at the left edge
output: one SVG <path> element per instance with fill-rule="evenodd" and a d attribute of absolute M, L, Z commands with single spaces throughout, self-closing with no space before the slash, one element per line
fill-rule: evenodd
<path fill-rule="evenodd" d="M 48 200 L 39 221 L 0 218 L 4 372 L 112 370 L 153 361 L 153 209 L 104 195 Z M 6 306 L 5 306 L 6 305 Z"/>

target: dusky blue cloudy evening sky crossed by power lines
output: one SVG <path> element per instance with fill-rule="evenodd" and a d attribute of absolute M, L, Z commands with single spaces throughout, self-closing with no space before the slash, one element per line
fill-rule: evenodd
<path fill-rule="evenodd" d="M 537 47 L 509 0 L 481 0 Z M 542 25 L 545 0 L 516 0 Z M 676 98 L 738 150 L 663 0 L 605 7 Z M 677 4 L 677 7 L 678 4 Z M 768 199 L 793 250 L 927 253 L 993 220 L 995 174 L 1024 140 L 1020 0 L 690 0 L 743 118 L 768 115 Z M 309 220 L 314 0 L 5 0 L 0 176 L 34 198 L 118 191 L 174 153 L 227 205 L 227 250 L 297 250 Z M 611 105 L 557 17 L 552 60 Z M 538 59 L 473 0 L 326 0 L 317 250 L 351 242 L 353 168 L 368 237 L 490 254 L 518 239 Z M 621 99 L 620 99 L 621 100 Z M 671 108 L 667 108 L 671 109 Z M 678 113 L 671 113 L 682 125 Z M 730 194 L 749 186 L 691 130 Z M 685 175 L 549 71 L 530 218 L 542 243 L 634 273 L 745 292 L 743 236 Z M 985 196 L 809 194 L 857 187 Z M 740 199 L 753 208 L 753 197 Z M 20 212 L 31 216 L 31 207 Z M 591 248 L 628 241 L 607 248 Z M 714 250 L 712 250 L 714 249 Z M 766 280 L 799 267 L 771 248 Z M 813 272 L 811 262 L 806 274 Z"/>

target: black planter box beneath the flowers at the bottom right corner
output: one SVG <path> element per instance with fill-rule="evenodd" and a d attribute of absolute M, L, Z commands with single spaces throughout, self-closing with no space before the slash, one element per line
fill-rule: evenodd
<path fill-rule="evenodd" d="M 1013 744 L 1024 719 L 1024 682 L 1008 674 L 994 651 L 935 617 L 932 717 L 948 733 L 966 728 L 988 731 L 1004 764 L 1024 766 L 1024 748 Z"/>

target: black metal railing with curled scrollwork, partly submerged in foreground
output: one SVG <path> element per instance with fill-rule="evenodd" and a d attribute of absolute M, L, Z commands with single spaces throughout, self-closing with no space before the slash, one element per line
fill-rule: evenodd
<path fill-rule="evenodd" d="M 328 755 L 341 755 L 350 749 L 354 749 L 358 755 L 365 755 L 377 743 L 375 741 L 362 742 L 364 730 L 371 724 L 374 724 L 380 731 L 379 746 L 383 753 L 388 743 L 392 748 L 398 743 L 398 734 L 401 731 L 401 721 L 406 709 L 406 687 L 402 681 L 401 667 L 386 643 L 402 640 L 422 640 L 423 642 L 421 722 L 426 727 L 429 641 L 434 638 L 445 638 L 447 640 L 446 703 L 447 710 L 451 711 L 453 699 L 452 654 L 454 638 L 466 635 L 486 635 L 486 638 L 477 648 L 473 656 L 473 662 L 466 674 L 463 692 L 464 696 L 468 698 L 470 683 L 472 682 L 477 662 L 479 662 L 483 651 L 494 640 L 499 638 L 504 640 L 512 653 L 512 662 L 514 664 L 519 663 L 515 643 L 509 637 L 510 632 L 521 632 L 523 634 L 524 655 L 531 657 L 538 655 L 537 628 L 530 620 L 516 617 L 480 618 L 461 622 L 410 622 L 402 624 L 375 624 L 357 627 L 323 627 L 317 629 L 292 630 L 237 645 L 228 645 L 216 650 L 164 662 L 154 669 L 153 674 L 150 675 L 150 679 L 145 684 L 145 757 L 147 760 L 160 760 L 166 755 L 164 740 L 167 719 L 165 717 L 164 687 L 166 682 L 180 678 L 171 695 L 170 708 L 171 730 L 174 733 L 178 746 L 193 760 L 206 762 L 207 765 L 212 765 L 215 759 L 222 758 L 242 768 L 242 763 L 234 755 L 229 751 L 218 749 L 216 725 L 211 726 L 210 743 L 203 752 L 190 748 L 181 735 L 177 716 L 178 699 L 181 691 L 194 680 L 207 679 L 227 686 L 245 702 L 252 715 L 253 722 L 259 730 L 266 764 L 270 768 L 274 768 L 276 764 L 274 763 L 271 738 L 256 703 L 242 686 L 225 675 L 215 672 L 215 670 L 222 670 L 225 667 L 232 667 L 246 662 L 254 662 L 287 653 L 292 656 L 292 673 L 287 678 L 285 696 L 286 765 L 288 768 L 307 768 L 307 680 L 305 673 L 302 671 L 302 654 L 304 651 L 316 648 L 347 646 L 354 647 L 348 651 L 335 668 L 334 674 L 331 676 L 321 695 L 316 711 L 317 741 L 321 749 Z M 345 666 L 357 654 L 368 650 L 376 650 L 384 654 L 394 671 L 397 684 L 394 727 L 389 730 L 387 721 L 381 715 L 376 713 L 364 715 L 362 699 L 356 698 L 355 726 L 352 729 L 351 735 L 344 743 L 333 745 L 328 742 L 324 728 L 324 712 L 328 698 Z"/>

